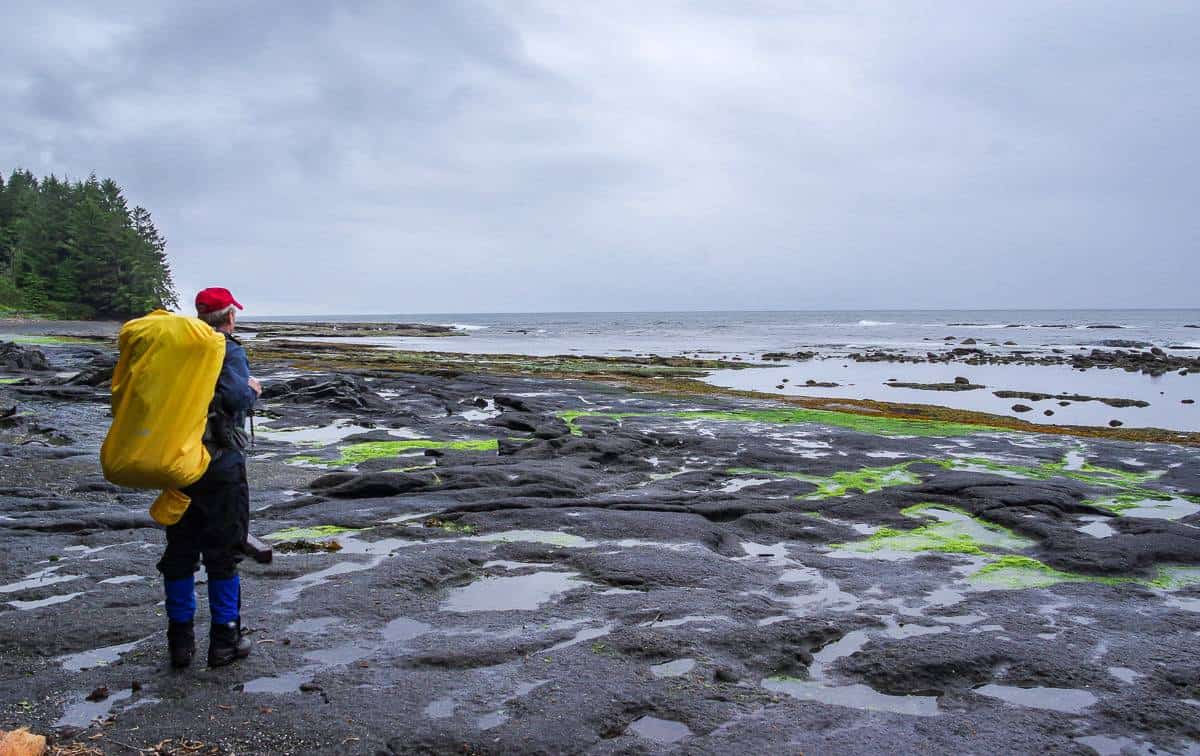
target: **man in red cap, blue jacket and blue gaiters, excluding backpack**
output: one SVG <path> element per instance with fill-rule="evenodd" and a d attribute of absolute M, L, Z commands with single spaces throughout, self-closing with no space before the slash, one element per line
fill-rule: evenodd
<path fill-rule="evenodd" d="M 167 644 L 170 665 L 186 667 L 196 653 L 196 578 L 203 557 L 209 576 L 209 666 L 220 667 L 250 655 L 241 634 L 241 584 L 238 563 L 250 527 L 246 484 L 246 416 L 262 394 L 250 376 L 246 350 L 233 336 L 242 306 L 229 289 L 209 288 L 196 295 L 196 316 L 224 334 L 226 350 L 209 408 L 204 444 L 212 458 L 204 476 L 182 488 L 192 502 L 167 527 L 167 550 L 158 562 L 167 595 Z"/>

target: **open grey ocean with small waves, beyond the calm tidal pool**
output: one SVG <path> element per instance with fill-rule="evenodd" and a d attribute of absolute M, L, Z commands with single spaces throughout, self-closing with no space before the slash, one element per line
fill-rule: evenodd
<path fill-rule="evenodd" d="M 1013 341 L 1032 349 L 1102 346 L 1118 338 L 1200 350 L 1200 310 L 396 313 L 251 319 L 455 325 L 469 338 L 452 344 L 420 337 L 367 341 L 479 354 L 712 356 L 864 348 L 923 353 L 930 342 L 946 336 Z"/>

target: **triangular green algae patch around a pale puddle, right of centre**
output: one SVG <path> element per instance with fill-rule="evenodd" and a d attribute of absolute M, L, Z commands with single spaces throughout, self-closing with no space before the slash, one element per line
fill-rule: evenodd
<path fill-rule="evenodd" d="M 935 522 L 899 530 L 881 528 L 862 541 L 834 544 L 834 548 L 872 553 L 880 551 L 941 552 L 984 556 L 988 550 L 1028 548 L 1033 541 L 1016 535 L 1008 528 L 985 522 L 961 509 L 944 504 L 916 504 L 901 510 L 906 517 L 932 517 Z"/>

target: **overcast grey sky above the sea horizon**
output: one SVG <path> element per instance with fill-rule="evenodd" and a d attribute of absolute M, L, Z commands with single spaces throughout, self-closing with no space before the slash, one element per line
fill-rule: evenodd
<path fill-rule="evenodd" d="M 1200 2 L 108 0 L 0 28 L 0 170 L 114 178 L 185 301 L 1200 302 Z"/>

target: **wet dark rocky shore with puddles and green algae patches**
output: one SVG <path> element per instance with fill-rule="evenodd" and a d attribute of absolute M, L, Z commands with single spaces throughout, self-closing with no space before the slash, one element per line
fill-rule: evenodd
<path fill-rule="evenodd" d="M 96 461 L 112 347 L 5 353 L 0 728 L 113 754 L 1200 742 L 1192 445 L 706 394 L 702 361 L 251 347 L 252 530 L 286 547 L 244 565 L 254 654 L 181 674 L 154 494 Z"/>

